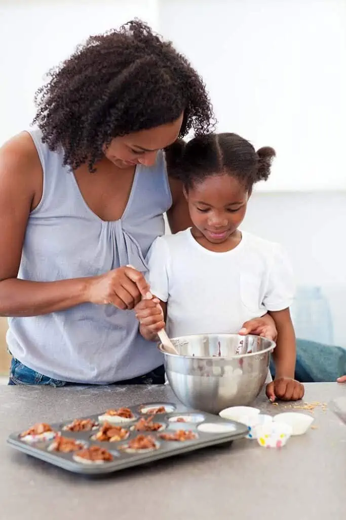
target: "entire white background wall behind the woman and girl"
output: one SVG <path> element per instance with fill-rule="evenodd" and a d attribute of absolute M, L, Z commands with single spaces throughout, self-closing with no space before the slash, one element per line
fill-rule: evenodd
<path fill-rule="evenodd" d="M 0 142 L 29 126 L 51 66 L 133 17 L 198 68 L 220 131 L 276 149 L 244 227 L 323 288 L 346 346 L 346 0 L 0 0 Z"/>

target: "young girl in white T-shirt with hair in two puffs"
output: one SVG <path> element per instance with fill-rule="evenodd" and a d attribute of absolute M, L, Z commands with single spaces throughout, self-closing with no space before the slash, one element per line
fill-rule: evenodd
<path fill-rule="evenodd" d="M 171 171 L 183 180 L 193 226 L 155 240 L 147 255 L 155 299 L 143 300 L 135 311 L 147 340 L 155 339 L 164 321 L 176 337 L 235 332 L 244 321 L 269 313 L 278 339 L 267 396 L 297 400 L 304 387 L 294 380 L 292 271 L 278 244 L 239 230 L 253 185 L 268 178 L 274 155 L 272 148 L 256 152 L 236 134 L 179 141 L 167 152 Z"/>

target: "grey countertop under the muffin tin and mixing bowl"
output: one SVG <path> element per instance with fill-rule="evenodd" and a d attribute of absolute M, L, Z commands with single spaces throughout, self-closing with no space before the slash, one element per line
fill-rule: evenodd
<path fill-rule="evenodd" d="M 339 396 L 346 396 L 346 385 L 306 385 L 305 402 Z M 167 386 L 0 387 L 1 520 L 344 518 L 346 426 L 321 407 L 316 429 L 281 450 L 242 439 L 104 478 L 68 473 L 6 445 L 9 433 L 35 422 L 155 400 L 176 401 Z M 264 396 L 256 405 L 271 414 L 288 411 Z"/>

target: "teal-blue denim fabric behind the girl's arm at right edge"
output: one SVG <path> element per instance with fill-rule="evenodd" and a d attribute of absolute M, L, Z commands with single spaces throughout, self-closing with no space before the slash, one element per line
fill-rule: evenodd
<path fill-rule="evenodd" d="M 274 363 L 270 372 L 275 375 Z M 295 378 L 301 383 L 334 382 L 346 375 L 346 349 L 308 340 L 297 340 Z"/>

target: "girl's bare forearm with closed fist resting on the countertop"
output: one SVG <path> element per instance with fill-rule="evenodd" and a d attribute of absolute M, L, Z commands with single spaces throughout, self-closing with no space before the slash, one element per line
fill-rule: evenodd
<path fill-rule="evenodd" d="M 304 395 L 304 386 L 295 381 L 296 336 L 289 309 L 271 311 L 271 317 L 278 331 L 276 347 L 273 351 L 275 379 L 267 385 L 266 393 L 272 402 L 278 398 L 296 401 Z"/>

